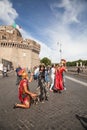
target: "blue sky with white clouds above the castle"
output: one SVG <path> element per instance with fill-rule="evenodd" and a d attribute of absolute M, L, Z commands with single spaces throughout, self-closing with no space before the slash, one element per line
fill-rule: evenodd
<path fill-rule="evenodd" d="M 0 25 L 16 23 L 40 59 L 87 60 L 87 0 L 0 0 Z"/>

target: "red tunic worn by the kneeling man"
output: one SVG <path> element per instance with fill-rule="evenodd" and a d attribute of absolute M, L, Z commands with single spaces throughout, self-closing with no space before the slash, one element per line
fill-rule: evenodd
<path fill-rule="evenodd" d="M 24 92 L 24 84 L 28 87 L 28 80 L 22 79 L 19 84 L 19 100 L 24 103 L 26 100 L 28 100 L 29 95 Z"/>

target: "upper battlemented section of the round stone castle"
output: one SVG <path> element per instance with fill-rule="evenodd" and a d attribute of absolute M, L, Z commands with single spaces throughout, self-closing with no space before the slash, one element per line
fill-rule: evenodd
<path fill-rule="evenodd" d="M 31 39 L 23 39 L 20 31 L 12 26 L 0 26 L 0 46 L 32 49 L 40 52 L 40 45 Z"/>

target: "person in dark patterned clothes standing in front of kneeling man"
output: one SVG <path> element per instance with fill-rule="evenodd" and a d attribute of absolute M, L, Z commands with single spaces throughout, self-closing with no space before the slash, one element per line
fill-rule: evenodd
<path fill-rule="evenodd" d="M 39 66 L 38 86 L 40 87 L 40 95 L 39 95 L 40 101 L 43 102 L 44 100 L 48 100 L 46 84 L 45 84 L 45 66 L 44 65 Z"/>

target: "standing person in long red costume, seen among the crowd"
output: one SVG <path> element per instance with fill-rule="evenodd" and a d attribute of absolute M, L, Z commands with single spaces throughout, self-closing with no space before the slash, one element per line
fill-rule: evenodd
<path fill-rule="evenodd" d="M 62 76 L 63 71 L 66 71 L 64 67 L 61 67 L 60 64 L 56 65 L 54 91 L 59 93 L 64 89 Z"/>

